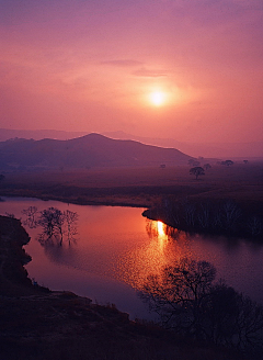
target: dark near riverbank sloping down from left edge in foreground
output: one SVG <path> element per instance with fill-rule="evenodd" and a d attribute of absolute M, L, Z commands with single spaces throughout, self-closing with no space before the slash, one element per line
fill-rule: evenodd
<path fill-rule="evenodd" d="M 23 250 L 28 235 L 18 220 L 0 216 L 0 225 L 1 359 L 241 359 L 156 325 L 130 322 L 114 305 L 34 285 L 23 268 L 30 260 Z"/>

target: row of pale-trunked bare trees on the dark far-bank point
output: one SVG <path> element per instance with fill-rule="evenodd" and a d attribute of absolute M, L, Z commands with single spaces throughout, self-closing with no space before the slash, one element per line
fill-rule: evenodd
<path fill-rule="evenodd" d="M 262 218 L 244 213 L 232 200 L 202 203 L 187 199 L 180 203 L 165 200 L 162 209 L 168 224 L 185 230 L 241 236 L 260 236 L 263 233 Z"/>

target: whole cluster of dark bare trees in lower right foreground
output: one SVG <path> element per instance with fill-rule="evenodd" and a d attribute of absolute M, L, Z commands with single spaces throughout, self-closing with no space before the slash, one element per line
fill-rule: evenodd
<path fill-rule="evenodd" d="M 151 274 L 141 296 L 167 328 L 180 335 L 242 349 L 263 342 L 263 307 L 221 280 L 207 261 L 183 258 Z"/>

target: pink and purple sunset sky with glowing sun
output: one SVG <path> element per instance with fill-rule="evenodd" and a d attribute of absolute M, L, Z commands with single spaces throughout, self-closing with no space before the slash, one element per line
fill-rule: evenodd
<path fill-rule="evenodd" d="M 0 127 L 263 140 L 262 0 L 0 0 Z"/>

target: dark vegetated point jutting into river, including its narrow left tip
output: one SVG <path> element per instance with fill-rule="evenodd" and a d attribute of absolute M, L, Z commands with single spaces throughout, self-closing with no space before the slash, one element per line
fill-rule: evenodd
<path fill-rule="evenodd" d="M 161 220 L 165 224 L 192 233 L 225 235 L 262 239 L 262 204 L 248 207 L 230 199 L 182 201 L 164 200 L 159 207 L 147 210 L 144 215 Z"/>

